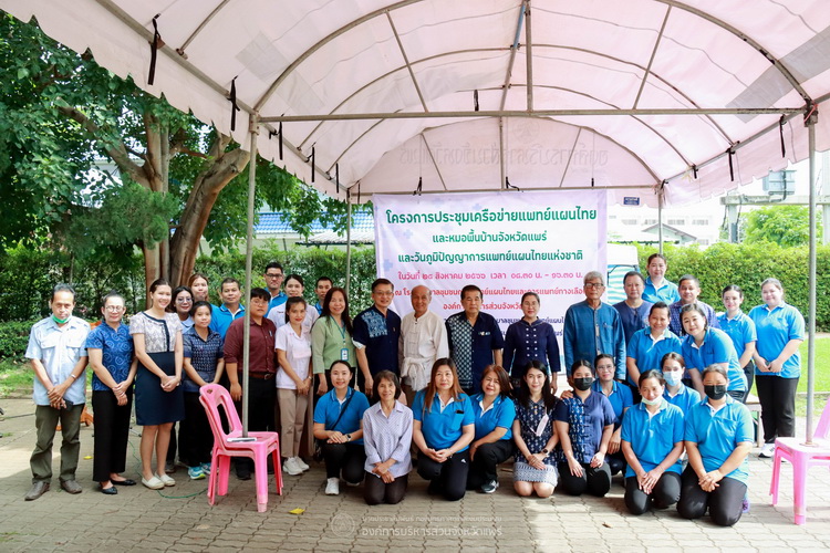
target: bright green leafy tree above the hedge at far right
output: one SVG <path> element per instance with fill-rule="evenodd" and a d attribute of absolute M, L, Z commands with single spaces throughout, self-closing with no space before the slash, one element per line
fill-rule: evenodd
<path fill-rule="evenodd" d="M 821 236 L 821 222 L 817 221 Z M 809 210 L 805 206 L 768 206 L 746 216 L 744 242 L 805 246 L 810 240 Z"/>

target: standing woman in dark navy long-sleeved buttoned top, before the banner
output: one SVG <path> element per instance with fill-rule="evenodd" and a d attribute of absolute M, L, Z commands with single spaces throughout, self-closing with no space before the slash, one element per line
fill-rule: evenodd
<path fill-rule="evenodd" d="M 551 374 L 553 392 L 556 375 L 561 368 L 557 333 L 550 323 L 539 320 L 539 294 L 525 292 L 521 296 L 522 317 L 507 327 L 505 333 L 505 368 L 510 373 L 513 386 L 518 387 L 525 368 L 531 361 L 540 361 Z"/>

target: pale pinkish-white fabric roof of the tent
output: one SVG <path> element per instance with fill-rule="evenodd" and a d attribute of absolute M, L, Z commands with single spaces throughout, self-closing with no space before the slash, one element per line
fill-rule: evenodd
<path fill-rule="evenodd" d="M 313 148 L 314 184 L 334 194 L 338 174 L 341 187 L 360 187 L 361 200 L 412 192 L 418 181 L 428 192 L 500 190 L 509 180 L 522 189 L 610 187 L 614 201 L 642 195 L 655 205 L 666 181 L 667 202 L 679 205 L 807 157 L 803 113 L 830 93 L 826 0 L 0 0 L 0 8 L 37 17 L 54 39 L 90 49 L 103 66 L 225 133 L 234 82 L 237 140 L 247 146 L 247 113 L 270 118 L 258 136 L 263 157 L 311 181 Z M 149 85 L 156 14 L 165 45 Z M 293 117 L 282 124 L 282 160 L 278 117 Z M 824 117 L 817 144 L 830 148 Z"/>

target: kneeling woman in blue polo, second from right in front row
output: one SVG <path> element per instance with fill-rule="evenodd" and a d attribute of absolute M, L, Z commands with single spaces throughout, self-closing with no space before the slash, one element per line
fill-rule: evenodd
<path fill-rule="evenodd" d="M 625 469 L 625 507 L 643 514 L 651 503 L 666 509 L 681 497 L 683 411 L 665 400 L 665 380 L 660 371 L 640 375 L 643 400 L 625 413 L 622 450 Z"/>

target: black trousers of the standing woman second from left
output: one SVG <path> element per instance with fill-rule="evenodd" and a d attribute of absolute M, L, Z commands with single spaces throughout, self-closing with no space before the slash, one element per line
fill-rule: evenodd
<path fill-rule="evenodd" d="M 127 469 L 127 442 L 129 441 L 129 416 L 133 411 L 133 388 L 126 390 L 127 403 L 118 407 L 112 390 L 92 393 L 92 410 L 95 414 L 95 445 L 93 447 L 92 479 L 106 482 L 112 472 Z"/>

